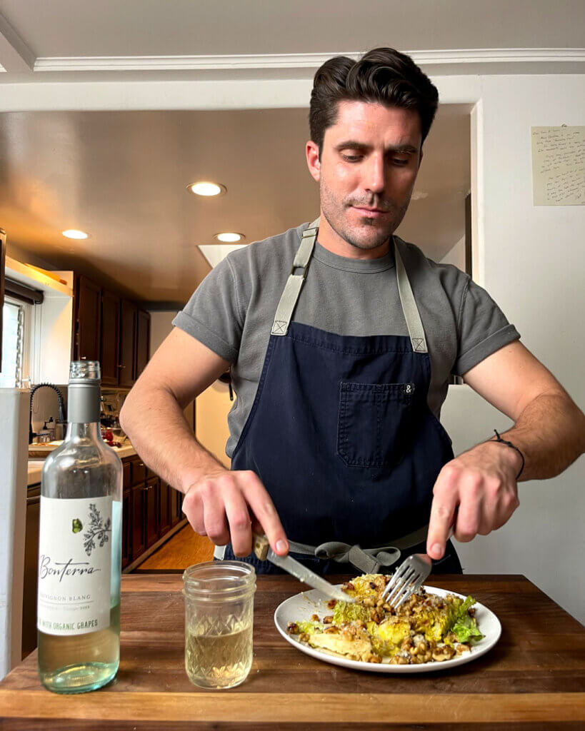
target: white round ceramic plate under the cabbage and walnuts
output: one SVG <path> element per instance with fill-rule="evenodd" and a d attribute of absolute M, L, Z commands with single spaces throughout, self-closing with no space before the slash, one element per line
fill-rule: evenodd
<path fill-rule="evenodd" d="M 461 596 L 461 594 L 456 594 L 455 591 L 445 591 L 445 589 L 435 588 L 434 586 L 425 586 L 424 588 L 429 594 L 437 594 L 438 596 L 446 596 L 447 594 Z M 465 597 L 461 596 L 461 599 L 465 599 Z M 386 662 L 374 663 L 350 660 L 326 650 L 309 647 L 309 645 L 299 642 L 298 635 L 290 635 L 287 632 L 287 624 L 289 622 L 308 621 L 311 619 L 312 614 L 318 614 L 322 618 L 325 614 L 331 613 L 331 610 L 327 608 L 327 601 L 328 597 L 318 589 L 301 591 L 301 594 L 290 596 L 289 599 L 285 599 L 276 608 L 276 612 L 274 613 L 276 629 L 278 629 L 287 642 L 290 642 L 291 645 L 294 645 L 298 650 L 301 650 L 301 652 L 307 655 L 311 655 L 325 662 L 331 662 L 334 665 L 352 667 L 355 670 L 368 670 L 370 673 L 429 673 L 433 670 L 448 670 L 450 667 L 472 662 L 472 660 L 476 660 L 478 657 L 486 654 L 488 650 L 494 647 L 499 640 L 499 635 L 502 634 L 502 625 L 499 624 L 497 616 L 488 610 L 488 607 L 484 607 L 483 604 L 476 602 L 473 605 L 475 618 L 478 621 L 478 629 L 485 636 L 483 640 L 479 640 L 472 645 L 471 652 L 466 652 L 451 660 L 444 660 L 443 662 L 423 662 L 418 665 L 390 665 Z"/>

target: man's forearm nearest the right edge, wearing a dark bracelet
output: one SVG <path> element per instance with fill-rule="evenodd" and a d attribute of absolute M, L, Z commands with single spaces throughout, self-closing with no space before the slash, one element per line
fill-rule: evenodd
<path fill-rule="evenodd" d="M 565 393 L 543 393 L 533 399 L 502 439 L 524 455 L 518 480 L 546 480 L 566 469 L 585 451 L 585 416 Z M 502 449 L 510 449 L 499 444 Z"/>

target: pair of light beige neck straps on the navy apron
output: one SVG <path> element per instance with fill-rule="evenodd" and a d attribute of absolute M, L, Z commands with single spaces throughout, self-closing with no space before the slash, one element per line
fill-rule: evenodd
<path fill-rule="evenodd" d="M 276 308 L 271 330 L 272 335 L 283 336 L 288 333 L 288 327 L 291 319 L 293 319 L 293 312 L 295 311 L 299 295 L 301 295 L 301 288 L 306 279 L 309 262 L 313 255 L 317 233 L 319 232 L 319 224 L 320 217 L 315 219 L 303 231 L 301 246 L 298 247 L 295 254 L 293 268 L 290 270 L 290 275 L 287 279 L 287 284 L 284 285 L 279 306 Z M 404 268 L 402 257 L 396 245 L 396 238 L 392 237 L 392 239 L 394 242 L 394 260 L 396 262 L 396 280 L 398 281 L 400 302 L 402 311 L 404 312 L 404 319 L 407 323 L 412 350 L 415 353 L 426 353 L 425 331 L 423 330 L 423 322 L 420 319 L 418 307 L 415 302 L 415 295 L 412 294 L 412 287 L 410 286 L 407 270 Z M 302 269 L 303 271 L 295 274 L 295 270 L 298 269 Z"/>

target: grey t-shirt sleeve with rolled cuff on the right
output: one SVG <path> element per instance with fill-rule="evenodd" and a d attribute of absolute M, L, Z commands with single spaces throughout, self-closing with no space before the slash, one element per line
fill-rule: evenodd
<path fill-rule="evenodd" d="M 469 277 L 461 295 L 457 334 L 458 353 L 453 373 L 458 376 L 520 337 L 488 292 Z"/>

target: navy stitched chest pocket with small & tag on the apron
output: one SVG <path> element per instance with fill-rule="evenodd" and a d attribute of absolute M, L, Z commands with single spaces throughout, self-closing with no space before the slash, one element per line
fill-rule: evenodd
<path fill-rule="evenodd" d="M 337 453 L 351 467 L 394 466 L 410 436 L 412 383 L 341 381 Z"/>

